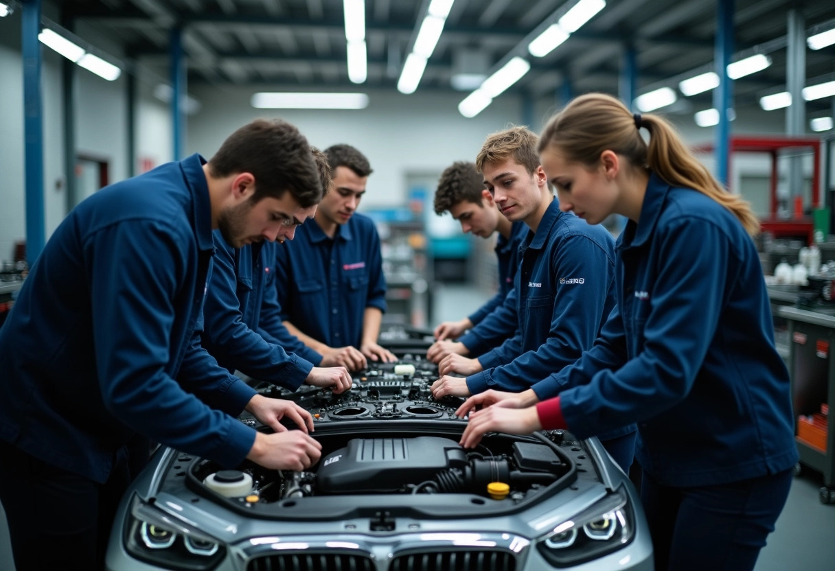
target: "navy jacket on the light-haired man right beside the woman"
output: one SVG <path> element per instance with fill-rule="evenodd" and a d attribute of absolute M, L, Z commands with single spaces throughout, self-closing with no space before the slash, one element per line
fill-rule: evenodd
<path fill-rule="evenodd" d="M 478 357 L 471 393 L 519 392 L 589 349 L 615 305 L 615 240 L 559 210 L 553 200 L 520 251 L 514 291 L 519 325 L 512 339 Z M 495 367 L 495 368 L 490 368 Z"/>

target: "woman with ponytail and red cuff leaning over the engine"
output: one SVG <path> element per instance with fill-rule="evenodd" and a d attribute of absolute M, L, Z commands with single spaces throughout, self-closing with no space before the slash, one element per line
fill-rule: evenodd
<path fill-rule="evenodd" d="M 555 428 L 584 438 L 637 422 L 656 571 L 754 568 L 797 462 L 757 218 L 664 119 L 608 95 L 569 103 L 539 152 L 560 209 L 590 224 L 628 219 L 617 306 L 574 365 L 518 395 L 468 399 L 461 443 Z"/>

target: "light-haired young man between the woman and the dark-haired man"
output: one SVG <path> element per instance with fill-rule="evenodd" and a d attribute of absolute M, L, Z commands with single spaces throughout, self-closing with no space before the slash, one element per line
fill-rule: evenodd
<path fill-rule="evenodd" d="M 519 326 L 513 338 L 478 359 L 445 357 L 438 366 L 443 376 L 432 387 L 436 398 L 529 388 L 590 349 L 615 306 L 615 240 L 602 226 L 559 210 L 537 144 L 529 129 L 505 129 L 491 134 L 476 158 L 502 214 L 530 229 L 514 280 Z M 635 426 L 600 441 L 628 472 Z"/>

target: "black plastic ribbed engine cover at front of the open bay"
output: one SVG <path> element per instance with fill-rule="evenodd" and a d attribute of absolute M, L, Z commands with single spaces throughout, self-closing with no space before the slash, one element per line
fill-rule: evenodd
<path fill-rule="evenodd" d="M 321 460 L 320 493 L 389 493 L 467 464 L 458 442 L 443 437 L 355 438 Z"/>

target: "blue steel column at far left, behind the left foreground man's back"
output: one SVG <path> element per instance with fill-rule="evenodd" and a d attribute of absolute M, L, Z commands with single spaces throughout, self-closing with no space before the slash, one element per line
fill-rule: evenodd
<path fill-rule="evenodd" d="M 26 259 L 31 266 L 45 242 L 43 224 L 43 101 L 41 98 L 41 1 L 23 2 L 23 144 L 26 165 Z"/>

